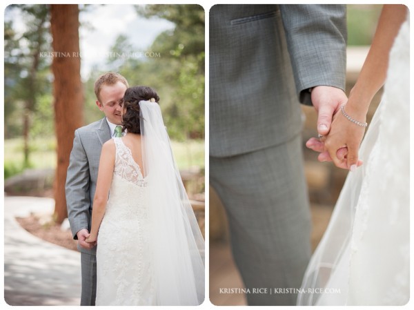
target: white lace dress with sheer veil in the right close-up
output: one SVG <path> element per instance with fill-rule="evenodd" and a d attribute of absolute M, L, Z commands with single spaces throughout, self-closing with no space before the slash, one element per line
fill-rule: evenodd
<path fill-rule="evenodd" d="M 299 305 L 409 300 L 409 21 L 391 50 L 382 102 L 306 270 Z"/>

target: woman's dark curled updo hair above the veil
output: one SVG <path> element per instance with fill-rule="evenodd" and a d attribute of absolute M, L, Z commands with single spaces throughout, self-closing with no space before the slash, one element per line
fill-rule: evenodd
<path fill-rule="evenodd" d="M 122 115 L 123 127 L 122 131 L 128 130 L 128 133 L 141 134 L 141 126 L 139 125 L 139 101 L 150 101 L 155 99 L 159 101 L 159 97 L 155 90 L 148 86 L 135 86 L 126 90 L 124 95 L 123 108 L 126 109 Z"/>

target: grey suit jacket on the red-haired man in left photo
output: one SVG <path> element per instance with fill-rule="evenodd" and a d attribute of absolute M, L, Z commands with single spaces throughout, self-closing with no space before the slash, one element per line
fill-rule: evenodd
<path fill-rule="evenodd" d="M 102 144 L 110 138 L 106 117 L 75 130 L 66 176 L 66 204 L 74 239 L 77 239 L 76 233 L 81 229 L 90 231 Z M 96 254 L 96 246 L 91 250 L 80 246 L 78 249 L 85 253 Z"/>

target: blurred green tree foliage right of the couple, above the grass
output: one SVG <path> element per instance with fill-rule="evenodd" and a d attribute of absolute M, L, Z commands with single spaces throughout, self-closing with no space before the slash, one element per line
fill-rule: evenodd
<path fill-rule="evenodd" d="M 204 9 L 198 5 L 156 4 L 137 7 L 137 12 L 146 18 L 160 17 L 175 23 L 174 30 L 162 32 L 152 43 L 151 50 L 163 57 L 152 59 L 150 66 L 164 84 L 158 81 L 169 135 L 181 141 L 203 139 Z"/>

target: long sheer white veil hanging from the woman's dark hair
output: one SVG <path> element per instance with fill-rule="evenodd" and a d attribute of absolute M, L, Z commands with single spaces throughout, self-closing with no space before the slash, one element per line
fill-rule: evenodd
<path fill-rule="evenodd" d="M 201 304 L 204 238 L 175 165 L 159 105 L 140 101 L 139 107 L 157 304 Z"/>

